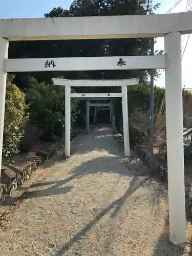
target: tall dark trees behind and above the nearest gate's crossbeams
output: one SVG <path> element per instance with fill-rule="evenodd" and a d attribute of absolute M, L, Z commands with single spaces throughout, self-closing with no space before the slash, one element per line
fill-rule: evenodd
<path fill-rule="evenodd" d="M 150 1 L 140 0 L 75 0 L 69 10 L 53 8 L 45 17 L 101 16 L 101 15 L 143 15 L 153 13 Z M 127 25 L 131 26 L 131 25 Z M 11 42 L 9 57 L 86 57 L 146 55 L 150 51 L 150 38 L 99 39 L 99 40 L 48 40 Z M 155 73 L 158 75 L 158 73 Z M 64 76 L 67 79 L 119 79 L 140 77 L 147 79 L 148 71 L 93 71 L 93 72 L 36 72 L 17 74 L 16 84 L 28 88 L 26 76 L 31 75 L 39 82 L 51 82 L 52 77 Z M 78 89 L 81 90 L 81 89 Z M 98 89 L 94 89 L 97 92 Z M 106 90 L 106 89 L 103 89 Z"/>

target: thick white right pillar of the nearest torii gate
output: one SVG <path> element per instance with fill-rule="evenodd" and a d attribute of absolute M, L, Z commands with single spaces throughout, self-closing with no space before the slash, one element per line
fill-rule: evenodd
<path fill-rule="evenodd" d="M 164 37 L 167 68 L 165 70 L 166 141 L 168 170 L 169 239 L 174 244 L 186 242 L 183 98 L 181 69 L 181 34 Z"/>

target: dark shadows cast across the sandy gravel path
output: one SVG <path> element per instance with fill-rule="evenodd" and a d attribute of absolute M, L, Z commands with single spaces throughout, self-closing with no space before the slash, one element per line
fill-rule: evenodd
<path fill-rule="evenodd" d="M 63 244 L 55 254 L 52 254 L 52 256 L 64 255 L 65 252 L 70 250 L 70 248 L 76 242 L 78 242 L 78 240 L 81 239 L 84 236 L 84 234 L 91 230 L 93 226 L 110 211 L 112 211 L 110 217 L 115 218 L 118 215 L 120 208 L 123 206 L 127 198 L 129 198 L 133 193 L 135 193 L 135 191 L 140 187 L 148 186 L 150 187 L 150 189 L 153 189 L 153 193 L 150 193 L 149 195 L 147 195 L 147 197 L 150 197 L 150 200 L 152 200 L 152 204 L 154 203 L 155 206 L 159 204 L 159 198 L 157 195 L 162 194 L 163 191 L 163 185 L 159 184 L 158 186 L 154 186 L 151 176 L 148 173 L 148 169 L 141 163 L 141 161 L 136 161 L 135 157 L 126 158 L 123 156 L 122 148 L 117 145 L 118 140 L 114 141 L 112 139 L 113 135 L 109 133 L 109 127 L 106 127 L 104 134 L 102 127 L 101 131 L 97 132 L 97 134 L 93 133 L 91 135 L 86 136 L 83 138 L 84 140 L 82 139 L 82 137 L 79 137 L 79 144 L 77 146 L 73 146 L 75 154 L 87 153 L 86 148 L 89 148 L 89 152 L 106 151 L 109 154 L 81 163 L 80 165 L 71 169 L 72 175 L 66 179 L 62 179 L 60 181 L 47 181 L 32 184 L 30 188 L 37 188 L 42 186 L 42 189 L 35 191 L 26 191 L 26 193 L 24 193 L 24 196 L 22 196 L 20 199 L 25 200 L 28 198 L 66 194 L 68 193 L 68 191 L 72 189 L 72 186 L 70 186 L 70 184 L 64 187 L 61 186 L 67 184 L 68 182 L 71 182 L 74 179 L 79 179 L 82 178 L 83 176 L 95 175 L 99 173 L 115 173 L 119 174 L 120 176 L 129 176 L 131 178 L 131 181 L 129 183 L 129 187 L 127 187 L 122 196 L 120 196 L 117 200 L 111 202 L 109 206 L 100 209 L 99 214 L 97 214 L 94 219 L 92 219 L 89 223 L 83 226 L 76 234 L 74 234 L 73 237 L 71 237 L 71 239 L 67 243 Z M 88 138 L 90 138 L 91 140 L 88 140 Z M 117 138 L 119 138 L 119 141 L 121 143 L 121 137 L 117 136 Z M 74 142 L 78 143 L 78 137 L 76 139 L 77 140 Z M 117 146 L 119 150 L 117 149 Z M 65 168 L 64 164 L 65 162 L 63 161 L 63 168 Z M 44 188 L 44 186 L 48 185 L 51 185 L 51 187 Z M 135 200 L 139 200 L 139 202 L 141 203 L 143 202 L 142 199 L 139 197 L 135 198 Z M 153 208 L 155 208 L 155 206 Z M 153 255 L 177 255 L 172 254 L 171 246 L 168 247 L 170 248 L 170 250 L 168 249 L 169 254 L 165 254 L 168 253 L 167 251 L 165 251 L 164 254 L 159 253 L 161 252 L 161 246 L 163 246 L 163 241 L 166 240 L 166 234 L 162 234 L 162 236 L 163 238 L 159 239 L 159 242 L 157 243 L 157 246 L 154 249 Z M 164 245 L 164 247 L 166 246 L 167 244 Z M 167 249 L 165 248 L 164 250 Z M 178 254 L 178 256 L 180 256 L 180 254 Z"/>

